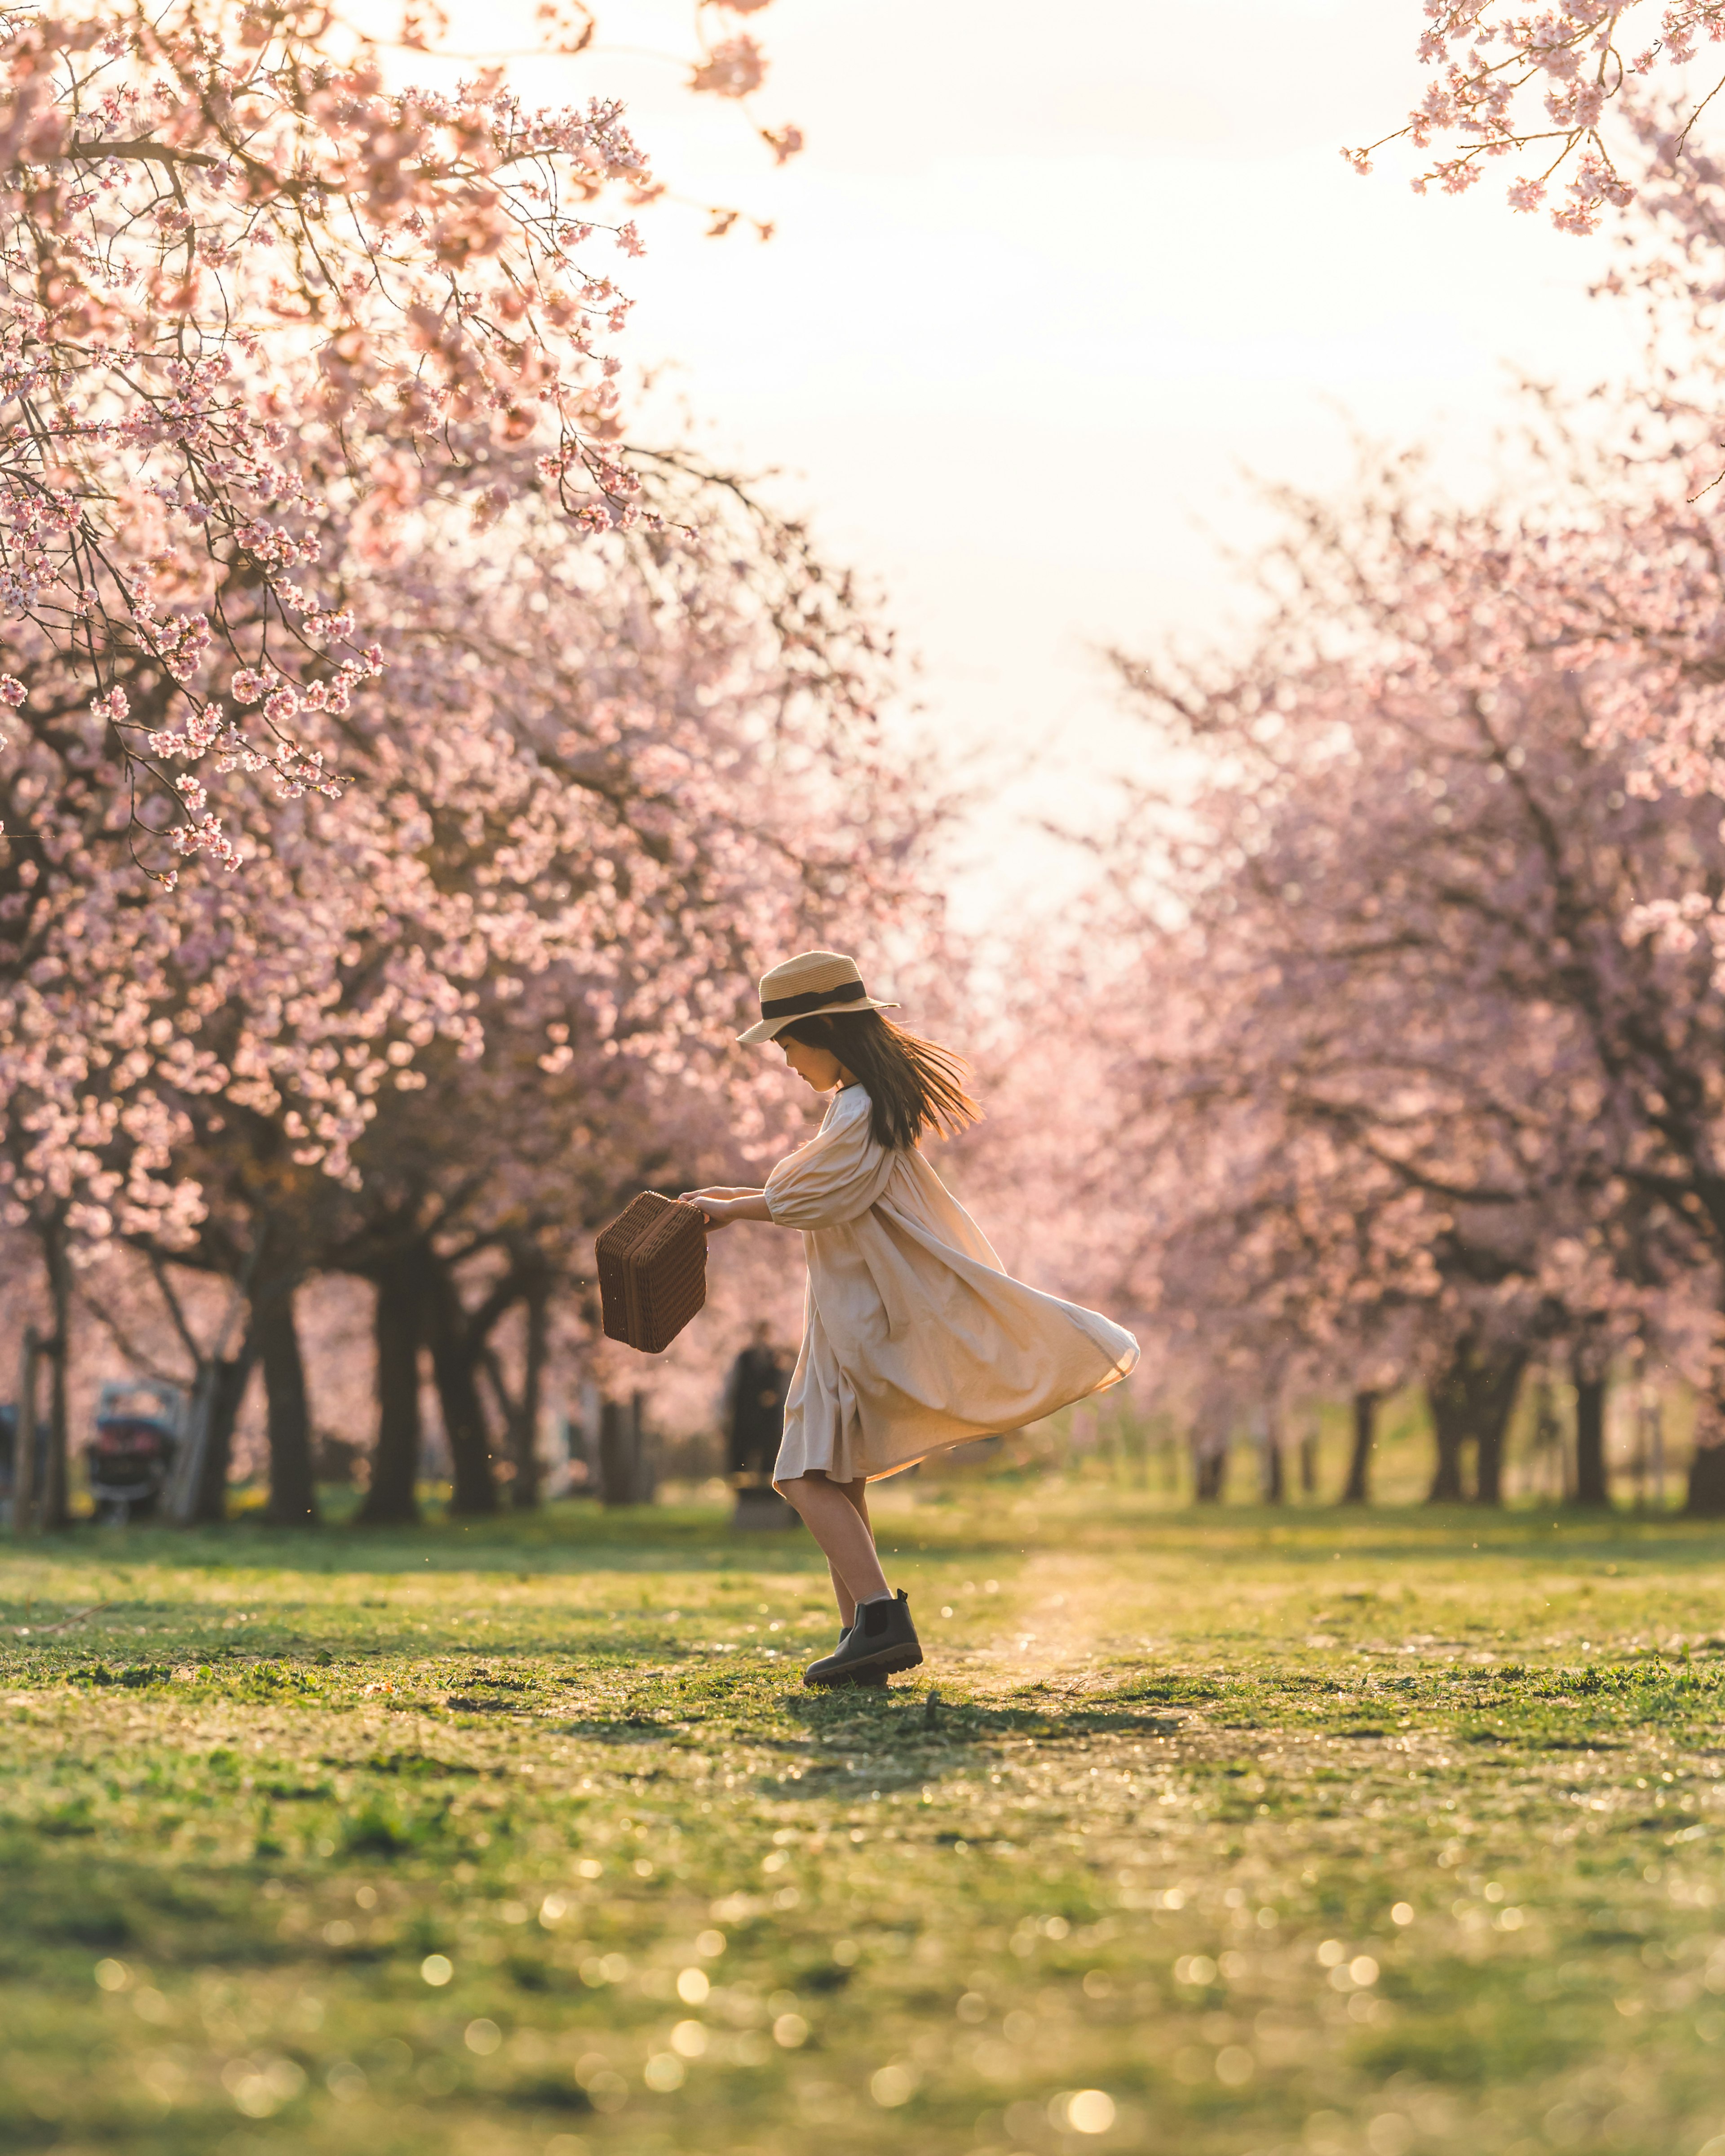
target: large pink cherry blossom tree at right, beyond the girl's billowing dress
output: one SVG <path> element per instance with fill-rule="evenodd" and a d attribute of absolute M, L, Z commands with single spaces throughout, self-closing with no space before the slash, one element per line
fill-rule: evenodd
<path fill-rule="evenodd" d="M 1410 1326 L 1455 1494 L 1455 1436 L 1501 1438 L 1531 1343 L 1598 1356 L 1719 1307 L 1725 1003 L 1695 927 L 1719 808 L 1662 787 L 1632 724 L 1678 694 L 1678 623 L 1690 658 L 1716 634 L 1712 530 L 1684 505 L 1630 548 L 1527 530 L 1423 511 L 1406 474 L 1285 507 L 1255 649 L 1123 662 L 1203 755 L 1117 847 L 1160 899 L 1134 1072 L 1179 1162 L 1158 1270 L 1259 1356 L 1283 1319 L 1307 1356 Z M 1697 1376 L 1716 1399 L 1716 1354 Z M 1712 1427 L 1699 1511 L 1725 1501 Z"/>

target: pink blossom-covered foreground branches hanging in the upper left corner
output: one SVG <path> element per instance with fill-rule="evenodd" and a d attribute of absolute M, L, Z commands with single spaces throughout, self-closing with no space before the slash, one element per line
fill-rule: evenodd
<path fill-rule="evenodd" d="M 315 716 L 382 664 L 321 567 L 330 509 L 643 513 L 627 302 L 589 257 L 638 250 L 597 205 L 651 177 L 615 103 L 388 91 L 300 0 L 0 28 L 2 692 L 75 664 L 134 828 L 233 865 L 205 772 L 334 791 Z"/>

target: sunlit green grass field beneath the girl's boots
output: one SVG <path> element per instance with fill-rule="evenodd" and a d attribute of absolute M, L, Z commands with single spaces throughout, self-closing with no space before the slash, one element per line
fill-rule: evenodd
<path fill-rule="evenodd" d="M 1725 2156 L 1725 1535 L 912 1483 L 0 1554 L 0 2147 Z"/>

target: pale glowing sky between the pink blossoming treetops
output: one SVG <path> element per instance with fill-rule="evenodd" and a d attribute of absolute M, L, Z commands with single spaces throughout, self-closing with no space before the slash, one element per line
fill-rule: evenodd
<path fill-rule="evenodd" d="M 759 119 L 809 138 L 783 172 L 647 56 L 690 52 L 688 6 L 599 6 L 612 50 L 524 88 L 625 95 L 660 177 L 776 224 L 720 244 L 656 209 L 636 351 L 882 580 L 919 724 L 1024 759 L 981 856 L 1044 875 L 1022 819 L 1080 817 L 1145 752 L 1095 647 L 1225 623 L 1220 545 L 1266 528 L 1242 474 L 1339 485 L 1363 429 L 1475 485 L 1518 369 L 1630 362 L 1598 252 L 1512 216 L 1507 168 L 1458 203 L 1343 166 L 1421 88 L 1417 0 L 776 0 L 746 26 Z M 998 890 L 979 869 L 968 910 Z"/>

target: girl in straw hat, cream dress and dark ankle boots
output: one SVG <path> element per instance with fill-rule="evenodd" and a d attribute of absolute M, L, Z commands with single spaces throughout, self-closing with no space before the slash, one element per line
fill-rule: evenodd
<path fill-rule="evenodd" d="M 832 1106 L 765 1190 L 686 1192 L 709 1229 L 802 1229 L 802 1352 L 772 1481 L 826 1554 L 843 1626 L 804 1684 L 884 1684 L 923 1660 L 906 1593 L 880 1570 L 871 1481 L 1052 1414 L 1138 1360 L 1117 1324 L 1009 1279 L 923 1160 L 923 1132 L 964 1130 L 981 1110 L 960 1059 L 880 1015 L 893 1009 L 839 951 L 765 972 L 761 1022 L 740 1039 L 778 1041 Z"/>

